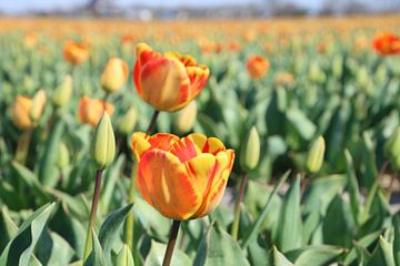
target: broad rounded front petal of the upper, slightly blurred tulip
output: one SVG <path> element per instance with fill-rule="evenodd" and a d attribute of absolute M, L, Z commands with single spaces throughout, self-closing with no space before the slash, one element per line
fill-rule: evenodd
<path fill-rule="evenodd" d="M 158 110 L 178 110 L 190 99 L 190 80 L 183 64 L 176 59 L 149 61 L 142 65 L 139 83 L 142 99 Z"/>

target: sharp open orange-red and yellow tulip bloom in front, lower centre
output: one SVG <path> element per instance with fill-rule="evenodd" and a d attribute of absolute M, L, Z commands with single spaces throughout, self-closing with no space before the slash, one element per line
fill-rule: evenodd
<path fill-rule="evenodd" d="M 233 166 L 234 151 L 199 133 L 179 139 L 159 133 L 132 135 L 138 160 L 137 187 L 162 215 L 192 219 L 220 203 Z"/>

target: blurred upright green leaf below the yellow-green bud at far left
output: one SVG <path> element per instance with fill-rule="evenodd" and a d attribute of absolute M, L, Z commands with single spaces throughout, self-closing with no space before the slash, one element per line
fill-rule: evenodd
<path fill-rule="evenodd" d="M 57 174 L 57 157 L 59 154 L 59 144 L 64 133 L 64 125 L 61 119 L 53 124 L 40 161 L 39 180 L 47 186 L 54 186 L 59 180 Z"/>

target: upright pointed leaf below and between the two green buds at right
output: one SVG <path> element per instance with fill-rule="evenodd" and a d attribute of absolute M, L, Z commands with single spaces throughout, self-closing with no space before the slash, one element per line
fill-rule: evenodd
<path fill-rule="evenodd" d="M 300 177 L 296 178 L 284 195 L 276 229 L 276 243 L 280 250 L 288 252 L 301 246 Z"/>

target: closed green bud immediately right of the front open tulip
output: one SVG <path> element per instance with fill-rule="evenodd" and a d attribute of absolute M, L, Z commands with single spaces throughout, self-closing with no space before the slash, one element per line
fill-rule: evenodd
<path fill-rule="evenodd" d="M 259 158 L 260 136 L 256 126 L 252 126 L 242 144 L 240 153 L 240 165 L 246 171 L 252 171 L 257 167 Z"/>

